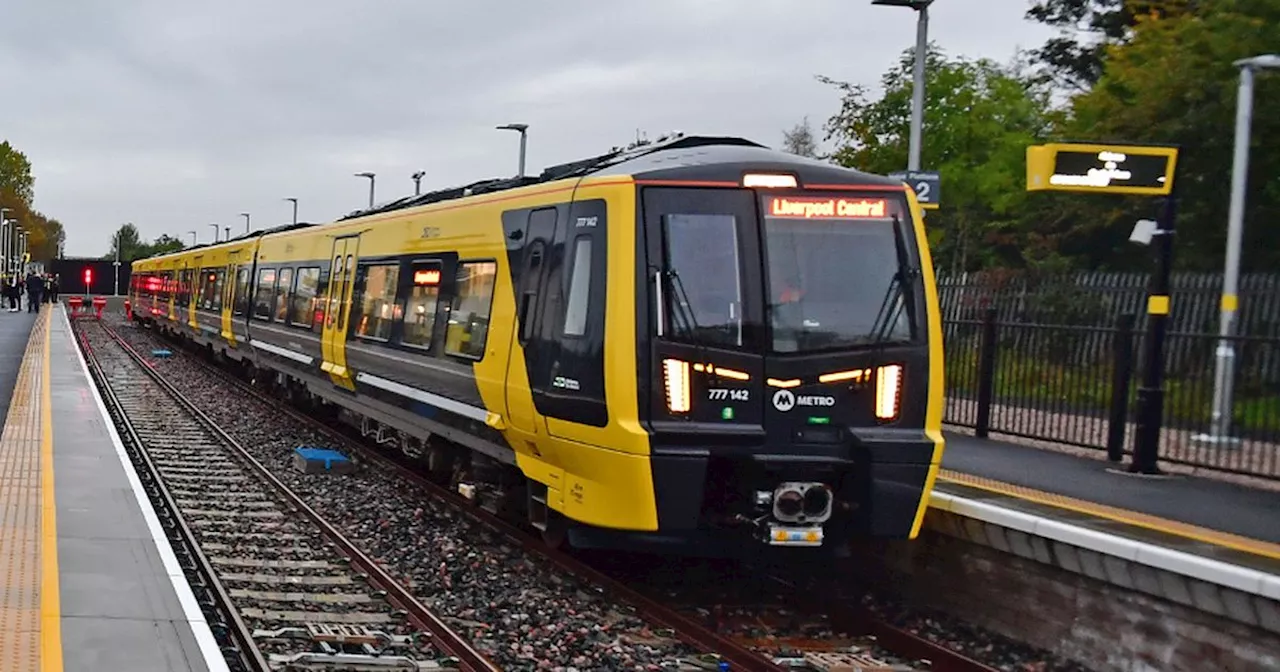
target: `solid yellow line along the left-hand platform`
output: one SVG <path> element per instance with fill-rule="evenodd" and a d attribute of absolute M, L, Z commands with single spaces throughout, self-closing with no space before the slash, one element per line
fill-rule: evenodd
<path fill-rule="evenodd" d="M 44 361 L 40 369 L 40 669 L 63 671 L 63 608 L 58 573 L 58 509 L 54 498 L 54 408 L 50 343 L 54 305 L 41 311 Z"/>

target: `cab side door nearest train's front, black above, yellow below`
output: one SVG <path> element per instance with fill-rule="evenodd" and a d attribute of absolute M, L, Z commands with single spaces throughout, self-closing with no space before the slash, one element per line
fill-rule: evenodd
<path fill-rule="evenodd" d="M 527 220 L 518 221 L 521 216 Z M 544 300 L 549 256 L 556 241 L 557 211 L 554 207 L 517 210 L 504 214 L 504 219 L 516 219 L 504 223 L 506 228 L 525 230 L 524 246 L 515 253 L 508 253 L 515 271 L 516 334 L 511 342 L 511 357 L 507 358 L 507 421 L 518 431 L 538 434 L 529 371 L 536 358 L 539 339 L 535 337 L 541 312 L 539 306 Z"/>

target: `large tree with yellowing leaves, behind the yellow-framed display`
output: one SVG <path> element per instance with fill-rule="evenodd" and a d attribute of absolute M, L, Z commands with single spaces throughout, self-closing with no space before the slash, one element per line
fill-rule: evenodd
<path fill-rule="evenodd" d="M 1172 5 L 1172 4 L 1169 4 Z M 1280 3 L 1185 3 L 1139 15 L 1128 41 L 1106 50 L 1097 84 L 1071 102 L 1059 136 L 1100 142 L 1175 143 L 1179 266 L 1216 271 L 1225 246 L 1238 70 L 1233 61 L 1280 51 Z M 1261 76 L 1253 108 L 1244 259 L 1280 265 L 1280 78 Z M 1076 201 L 1085 198 L 1075 197 Z M 1124 238 L 1155 212 L 1149 198 L 1092 198 L 1074 206 L 1074 247 L 1097 264 L 1146 266 Z M 1085 225 L 1087 223 L 1087 225 Z"/>

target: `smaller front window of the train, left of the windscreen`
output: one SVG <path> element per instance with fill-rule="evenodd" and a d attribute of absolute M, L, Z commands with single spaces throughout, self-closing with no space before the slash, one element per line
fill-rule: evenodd
<path fill-rule="evenodd" d="M 669 283 L 664 314 L 673 335 L 742 344 L 741 261 L 733 215 L 666 215 Z"/>

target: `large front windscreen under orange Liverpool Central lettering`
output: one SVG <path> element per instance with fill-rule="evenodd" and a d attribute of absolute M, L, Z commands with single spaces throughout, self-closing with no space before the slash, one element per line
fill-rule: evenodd
<path fill-rule="evenodd" d="M 767 196 L 763 205 L 774 352 L 911 339 L 897 201 Z"/>

